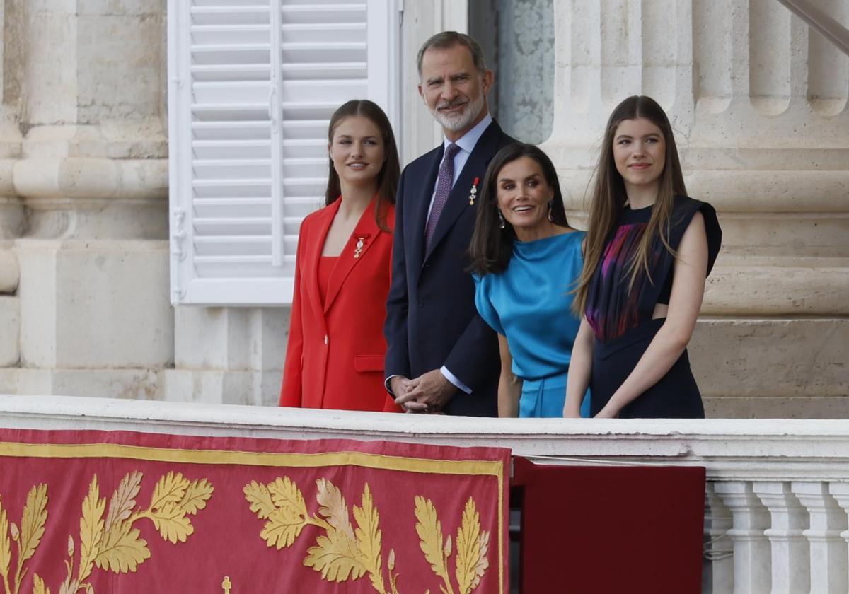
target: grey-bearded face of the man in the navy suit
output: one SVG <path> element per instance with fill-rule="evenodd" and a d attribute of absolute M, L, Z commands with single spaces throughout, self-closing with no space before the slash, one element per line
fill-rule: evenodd
<path fill-rule="evenodd" d="M 422 56 L 419 94 L 446 132 L 462 137 L 486 113 L 492 72 L 481 72 L 469 48 L 428 48 Z"/>

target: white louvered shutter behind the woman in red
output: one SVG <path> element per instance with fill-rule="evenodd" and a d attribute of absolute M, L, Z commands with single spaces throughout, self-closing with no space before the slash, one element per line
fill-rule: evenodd
<path fill-rule="evenodd" d="M 397 118 L 395 6 L 169 2 L 173 305 L 291 302 L 330 115 L 370 98 Z"/>

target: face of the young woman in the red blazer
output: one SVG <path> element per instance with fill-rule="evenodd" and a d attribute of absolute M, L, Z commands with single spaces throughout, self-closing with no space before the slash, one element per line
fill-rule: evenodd
<path fill-rule="evenodd" d="M 333 131 L 329 152 L 341 182 L 377 183 L 385 152 L 380 128 L 372 120 L 362 115 L 341 120 Z"/>

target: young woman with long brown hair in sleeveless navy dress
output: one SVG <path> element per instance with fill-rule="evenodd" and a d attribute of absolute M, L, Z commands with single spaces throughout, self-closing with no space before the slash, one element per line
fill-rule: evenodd
<path fill-rule="evenodd" d="M 721 241 L 713 207 L 687 197 L 661 106 L 625 99 L 596 170 L 565 417 L 588 385 L 593 417 L 705 416 L 687 344 Z"/>

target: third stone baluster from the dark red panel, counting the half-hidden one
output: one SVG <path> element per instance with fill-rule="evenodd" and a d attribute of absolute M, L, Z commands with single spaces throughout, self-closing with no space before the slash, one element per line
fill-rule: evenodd
<path fill-rule="evenodd" d="M 807 510 L 799 505 L 789 483 L 757 482 L 752 490 L 772 518 L 764 532 L 773 550 L 772 594 L 807 592 L 811 586 L 810 551 L 802 535 L 808 528 Z"/>

